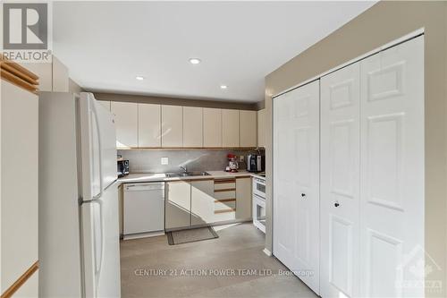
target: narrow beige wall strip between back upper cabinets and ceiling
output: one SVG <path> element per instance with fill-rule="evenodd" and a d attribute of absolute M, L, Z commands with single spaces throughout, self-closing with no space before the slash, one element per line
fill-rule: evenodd
<path fill-rule="evenodd" d="M 116 93 L 101 93 L 93 92 L 95 98 L 98 100 L 110 100 L 110 101 L 128 101 L 139 102 L 146 104 L 157 105 L 172 105 L 172 106 L 201 106 L 201 107 L 215 107 L 215 108 L 232 108 L 241 110 L 257 110 L 257 103 L 240 103 L 230 101 L 217 101 L 217 100 L 199 100 L 199 99 L 186 99 L 186 98 L 164 98 L 156 96 L 142 96 L 142 95 L 129 95 L 129 94 L 116 94 Z"/>

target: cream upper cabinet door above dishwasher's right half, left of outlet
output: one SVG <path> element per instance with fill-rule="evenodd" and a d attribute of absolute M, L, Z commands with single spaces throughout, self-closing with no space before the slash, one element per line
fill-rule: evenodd
<path fill-rule="evenodd" d="M 139 104 L 139 147 L 161 147 L 161 106 Z"/>

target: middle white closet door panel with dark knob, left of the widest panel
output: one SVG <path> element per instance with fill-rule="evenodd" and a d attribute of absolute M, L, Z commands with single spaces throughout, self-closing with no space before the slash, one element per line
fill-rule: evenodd
<path fill-rule="evenodd" d="M 322 297 L 358 297 L 360 63 L 321 79 Z"/>

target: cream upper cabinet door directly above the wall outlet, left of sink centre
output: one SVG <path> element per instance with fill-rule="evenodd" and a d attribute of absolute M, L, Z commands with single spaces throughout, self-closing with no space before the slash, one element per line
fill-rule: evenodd
<path fill-rule="evenodd" d="M 182 106 L 162 106 L 162 147 L 183 146 Z"/>

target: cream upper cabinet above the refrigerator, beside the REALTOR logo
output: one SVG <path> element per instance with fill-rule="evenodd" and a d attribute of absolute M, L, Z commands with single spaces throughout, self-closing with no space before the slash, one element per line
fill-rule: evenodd
<path fill-rule="evenodd" d="M 55 56 L 51 63 L 22 64 L 38 75 L 40 91 L 68 92 L 68 68 Z"/>

